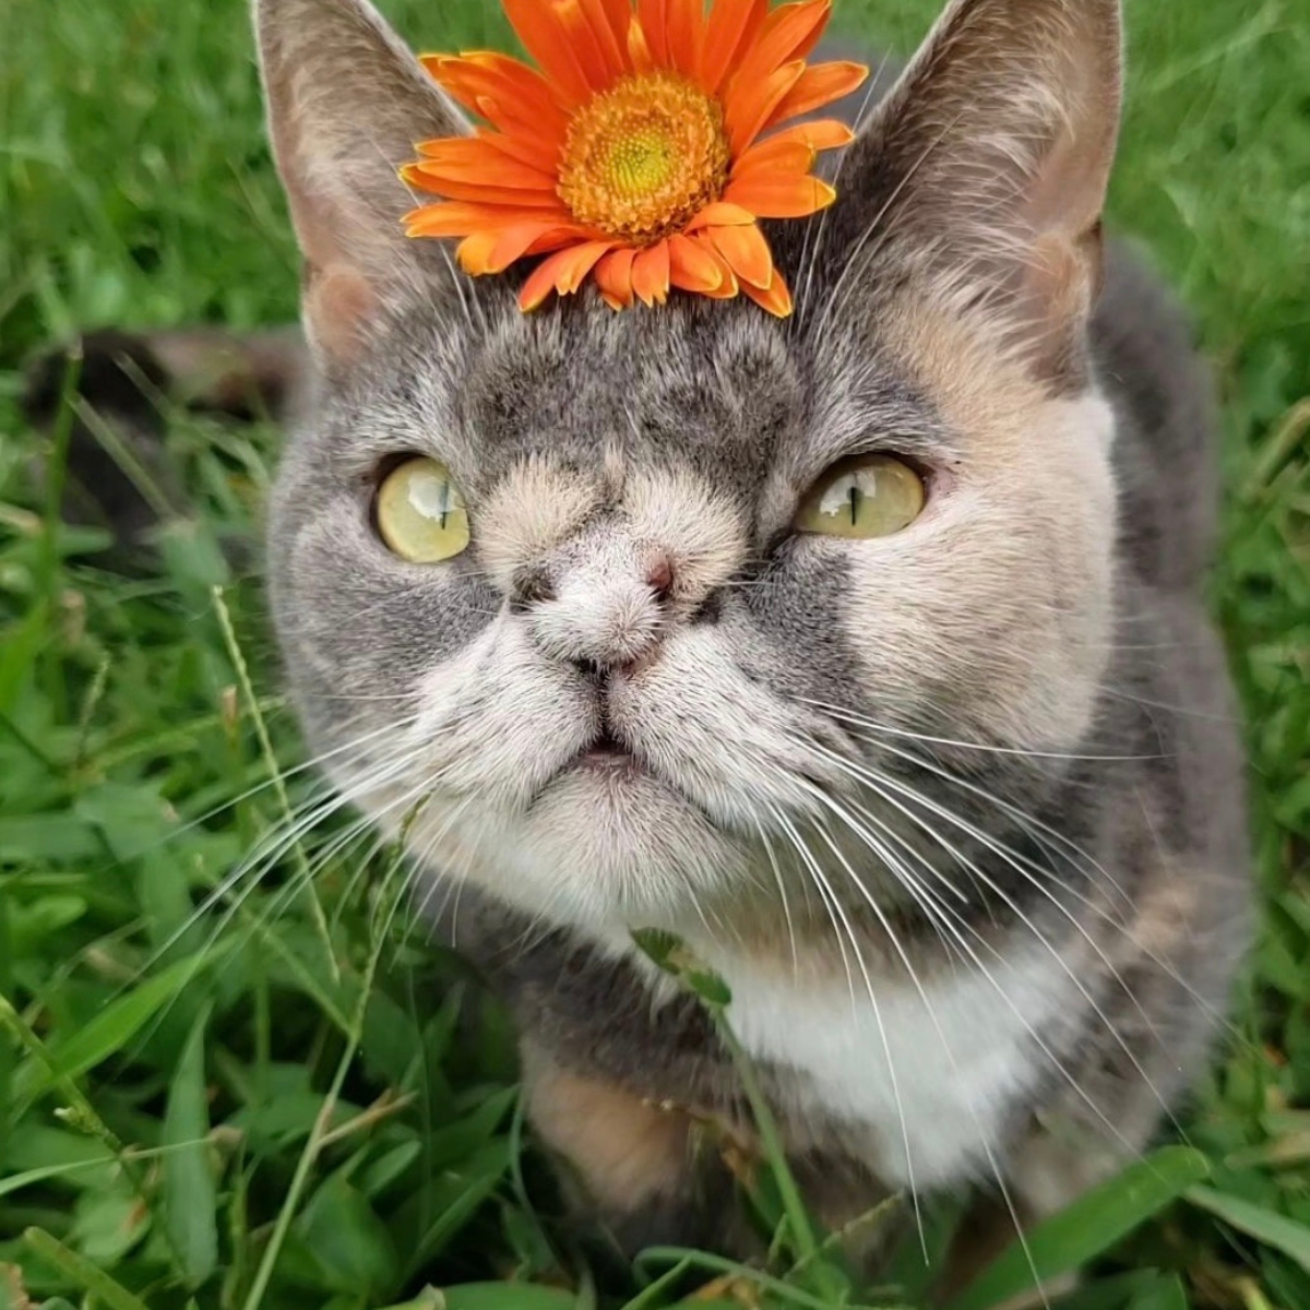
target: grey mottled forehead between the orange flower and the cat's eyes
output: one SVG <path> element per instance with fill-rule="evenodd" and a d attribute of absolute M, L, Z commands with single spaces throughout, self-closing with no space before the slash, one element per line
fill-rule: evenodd
<path fill-rule="evenodd" d="M 954 444 L 913 352 L 887 348 L 897 316 L 871 304 L 815 331 L 740 301 L 521 314 L 482 295 L 481 312 L 411 310 L 330 393 L 309 439 L 331 464 L 431 455 L 476 499 L 542 460 L 591 483 L 677 469 L 747 504 L 874 445 L 927 461 Z"/>

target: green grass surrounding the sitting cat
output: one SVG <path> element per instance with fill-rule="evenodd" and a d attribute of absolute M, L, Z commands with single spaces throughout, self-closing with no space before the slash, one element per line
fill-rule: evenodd
<path fill-rule="evenodd" d="M 503 38 L 482 0 L 388 8 L 435 47 Z M 842 13 L 905 48 L 933 8 Z M 1264 933 L 1242 1035 L 1187 1115 L 1193 1149 L 1032 1247 L 1047 1271 L 1093 1262 L 1070 1310 L 1306 1310 L 1310 17 L 1136 0 L 1129 33 L 1112 211 L 1180 288 L 1222 386 L 1214 603 L 1251 724 Z M 279 849 L 261 723 L 287 806 L 320 785 L 296 772 L 258 582 L 216 545 L 255 531 L 276 435 L 174 419 L 202 512 L 148 579 L 97 567 L 102 542 L 30 479 L 59 445 L 18 419 L 34 352 L 97 325 L 293 313 L 242 0 L 8 0 L 0 106 L 0 1306 L 672 1305 L 723 1271 L 669 1252 L 616 1271 L 571 1244 L 523 1142 L 503 1017 L 393 914 L 393 857 L 342 845 L 339 823 Z M 270 876 L 220 893 L 252 852 Z M 293 892 L 301 861 L 314 900 Z M 774 1256 L 753 1281 L 728 1271 L 717 1303 L 917 1302 L 916 1244 L 899 1289 L 857 1290 L 785 1179 L 765 1171 L 752 1204 L 781 1222 Z M 930 1220 L 937 1241 L 950 1214 Z M 1009 1259 L 960 1310 L 1022 1277 Z M 466 1286 L 487 1280 L 514 1285 Z"/>

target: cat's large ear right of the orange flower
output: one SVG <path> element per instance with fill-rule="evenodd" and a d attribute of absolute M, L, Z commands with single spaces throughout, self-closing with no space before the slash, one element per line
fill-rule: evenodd
<path fill-rule="evenodd" d="M 1081 371 L 1121 41 L 1119 0 L 955 0 L 841 165 L 833 257 L 900 255 L 1048 376 Z"/>

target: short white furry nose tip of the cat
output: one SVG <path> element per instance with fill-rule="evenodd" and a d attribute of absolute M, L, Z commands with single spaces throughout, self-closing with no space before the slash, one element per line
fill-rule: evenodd
<path fill-rule="evenodd" d="M 667 552 L 642 550 L 608 566 L 582 565 L 536 578 L 521 612 L 540 650 L 599 676 L 658 648 L 676 582 Z"/>

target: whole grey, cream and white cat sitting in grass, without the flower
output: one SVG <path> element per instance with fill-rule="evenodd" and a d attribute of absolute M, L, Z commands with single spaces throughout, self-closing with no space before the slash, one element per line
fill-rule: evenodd
<path fill-rule="evenodd" d="M 520 313 L 517 271 L 402 234 L 396 166 L 468 124 L 385 21 L 255 26 L 305 259 L 267 534 L 291 694 L 511 1005 L 578 1204 L 633 1250 L 741 1237 L 694 1149 L 705 1116 L 751 1140 L 738 1069 L 638 929 L 731 990 L 831 1222 L 976 1186 L 1030 1224 L 1140 1153 L 1250 886 L 1210 384 L 1102 236 L 1117 0 L 950 4 L 836 204 L 769 229 L 786 322 Z M 466 506 L 444 562 L 379 520 L 415 458 Z M 870 469 L 920 489 L 899 531 L 798 528 Z"/>

